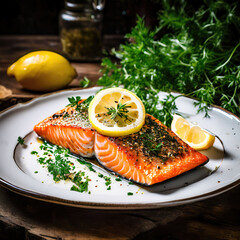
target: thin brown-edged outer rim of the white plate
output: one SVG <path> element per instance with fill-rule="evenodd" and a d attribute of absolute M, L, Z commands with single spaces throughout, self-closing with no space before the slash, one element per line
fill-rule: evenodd
<path fill-rule="evenodd" d="M 8 112 L 14 111 L 15 109 L 21 108 L 21 107 L 26 107 L 28 105 L 31 105 L 34 102 L 37 102 L 41 99 L 44 99 L 45 97 L 51 97 L 54 95 L 58 95 L 61 93 L 67 93 L 67 92 L 76 92 L 76 91 L 91 91 L 91 90 L 96 90 L 96 89 L 101 89 L 101 86 L 93 86 L 85 89 L 64 89 L 56 92 L 50 92 L 50 93 L 45 93 L 40 96 L 37 96 L 31 100 L 28 100 L 24 103 L 18 103 L 15 104 L 14 106 L 11 106 L 9 108 L 6 108 L 0 112 L 0 117 L 2 115 L 7 114 Z M 159 91 L 161 93 L 163 91 Z M 163 92 L 166 93 L 166 92 Z M 180 94 L 178 92 L 172 92 L 176 94 Z M 189 98 L 192 100 L 197 101 L 194 98 L 184 96 L 185 98 Z M 231 117 L 235 117 L 239 122 L 240 122 L 240 117 L 236 116 L 235 114 L 231 113 L 230 111 L 218 106 L 218 105 L 211 105 L 211 108 L 216 108 L 219 109 L 223 112 L 225 112 L 227 115 L 230 115 Z M 170 201 L 165 201 L 165 202 L 153 202 L 153 203 L 102 203 L 102 202 L 88 202 L 88 201 L 75 201 L 75 200 L 68 200 L 68 199 L 63 199 L 60 197 L 55 197 L 55 196 L 49 196 L 43 193 L 35 192 L 32 190 L 25 189 L 20 186 L 16 186 L 7 180 L 3 179 L 0 177 L 0 186 L 15 192 L 17 194 L 20 194 L 25 197 L 30 197 L 32 199 L 37 199 L 39 201 L 45 201 L 45 202 L 51 202 L 55 204 L 62 204 L 62 205 L 67 205 L 67 206 L 73 206 L 73 207 L 82 207 L 82 208 L 92 208 L 92 209 L 110 209 L 110 210 L 115 210 L 115 209 L 154 209 L 154 208 L 162 208 L 162 207 L 170 207 L 170 206 L 178 206 L 178 205 L 183 205 L 183 204 L 188 204 L 196 201 L 201 201 L 210 197 L 217 196 L 221 193 L 224 193 L 228 190 L 231 190 L 232 188 L 238 186 L 240 184 L 240 178 L 235 180 L 234 182 L 223 186 L 221 188 L 218 188 L 216 190 L 213 190 L 211 192 L 193 196 L 193 197 L 187 197 L 187 198 L 181 198 L 177 200 L 170 200 Z"/>

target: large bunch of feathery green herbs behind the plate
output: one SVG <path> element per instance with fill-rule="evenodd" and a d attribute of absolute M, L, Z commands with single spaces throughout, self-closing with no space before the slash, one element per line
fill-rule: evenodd
<path fill-rule="evenodd" d="M 138 17 L 136 26 L 126 35 L 128 41 L 113 51 L 119 63 L 103 59 L 98 84 L 123 85 L 135 92 L 147 113 L 168 126 L 177 110 L 171 91 L 196 98 L 195 105 L 205 116 L 211 104 L 240 116 L 238 2 L 161 3 L 159 24 L 150 30 Z M 169 92 L 161 102 L 159 91 Z"/>

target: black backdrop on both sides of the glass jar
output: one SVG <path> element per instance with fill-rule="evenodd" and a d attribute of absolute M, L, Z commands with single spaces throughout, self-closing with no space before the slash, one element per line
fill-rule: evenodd
<path fill-rule="evenodd" d="M 1 6 L 1 35 L 57 35 L 58 15 L 64 0 L 8 0 Z M 146 24 L 157 22 L 157 0 L 106 0 L 103 34 L 125 34 L 136 23 L 136 15 Z"/>

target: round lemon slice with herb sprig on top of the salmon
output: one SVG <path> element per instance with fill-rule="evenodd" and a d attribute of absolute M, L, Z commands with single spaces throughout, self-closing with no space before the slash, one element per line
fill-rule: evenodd
<path fill-rule="evenodd" d="M 134 93 L 119 87 L 97 93 L 88 113 L 93 128 L 112 137 L 138 132 L 145 122 L 142 101 Z"/>

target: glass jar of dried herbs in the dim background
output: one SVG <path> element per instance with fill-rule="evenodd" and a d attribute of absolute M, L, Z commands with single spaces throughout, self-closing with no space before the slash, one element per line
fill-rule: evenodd
<path fill-rule="evenodd" d="M 70 60 L 97 61 L 102 53 L 102 13 L 89 0 L 65 0 L 59 16 L 63 54 Z"/>

